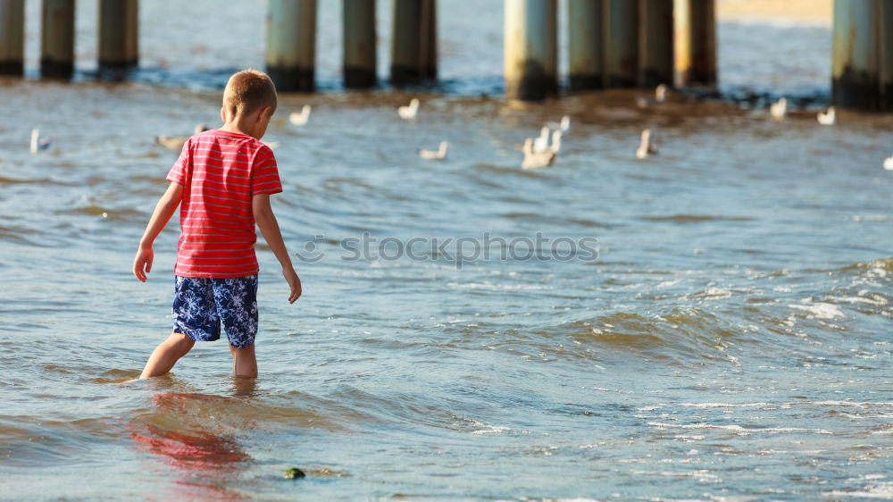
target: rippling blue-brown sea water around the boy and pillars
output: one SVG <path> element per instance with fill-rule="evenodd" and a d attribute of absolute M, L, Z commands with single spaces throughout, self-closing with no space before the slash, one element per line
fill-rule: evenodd
<path fill-rule="evenodd" d="M 127 382 L 170 330 L 176 224 L 149 281 L 129 273 L 176 156 L 153 138 L 216 124 L 226 74 L 262 65 L 263 10 L 188 21 L 209 4 L 144 5 L 135 82 L 94 83 L 84 59 L 74 84 L 0 82 L 0 498 L 893 498 L 889 117 L 642 113 L 624 92 L 507 107 L 480 96 L 501 86 L 490 4 L 474 21 L 444 7 L 449 82 L 415 122 L 394 111 L 408 92 L 281 96 L 273 207 L 293 253 L 325 255 L 298 264 L 288 305 L 260 247 L 260 378 L 232 379 L 217 343 Z M 727 91 L 827 96 L 827 29 L 719 34 Z M 563 113 L 555 167 L 520 170 L 513 145 Z M 28 152 L 32 127 L 49 151 Z M 661 154 L 636 161 L 643 127 Z M 444 138 L 447 161 L 416 155 Z M 599 255 L 343 260 L 364 231 L 541 232 Z"/>

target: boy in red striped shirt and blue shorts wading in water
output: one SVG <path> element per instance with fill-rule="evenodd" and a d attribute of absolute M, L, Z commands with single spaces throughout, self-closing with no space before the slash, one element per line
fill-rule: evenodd
<path fill-rule="evenodd" d="M 133 274 L 146 281 L 152 243 L 182 201 L 174 327 L 149 357 L 141 379 L 170 371 L 196 340 L 220 339 L 221 321 L 236 376 L 257 376 L 255 222 L 282 265 L 291 289 L 288 303 L 301 296 L 301 280 L 270 207 L 270 195 L 282 191 L 276 159 L 260 141 L 276 105 L 276 88 L 263 71 L 235 73 L 223 91 L 223 127 L 189 138 L 168 173 L 171 185 L 139 241 Z"/>

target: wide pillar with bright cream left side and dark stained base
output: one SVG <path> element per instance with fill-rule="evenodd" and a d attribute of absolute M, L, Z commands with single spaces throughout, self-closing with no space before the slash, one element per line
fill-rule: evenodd
<path fill-rule="evenodd" d="M 538 101 L 558 93 L 555 0 L 505 0 L 505 96 Z"/>

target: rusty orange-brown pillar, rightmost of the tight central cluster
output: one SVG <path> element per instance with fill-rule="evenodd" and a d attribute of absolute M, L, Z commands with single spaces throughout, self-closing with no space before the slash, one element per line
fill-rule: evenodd
<path fill-rule="evenodd" d="M 677 86 L 716 83 L 716 10 L 714 0 L 676 0 Z"/>

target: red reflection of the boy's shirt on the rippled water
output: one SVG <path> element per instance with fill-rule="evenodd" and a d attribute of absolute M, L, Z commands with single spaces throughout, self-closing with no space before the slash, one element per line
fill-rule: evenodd
<path fill-rule="evenodd" d="M 250 422 L 228 423 L 226 408 L 255 396 L 256 380 L 233 378 L 234 397 L 197 393 L 154 394 L 154 411 L 138 416 L 128 429 L 138 449 L 179 472 L 176 498 L 240 499 L 227 489 L 252 460 L 238 435 Z"/>

